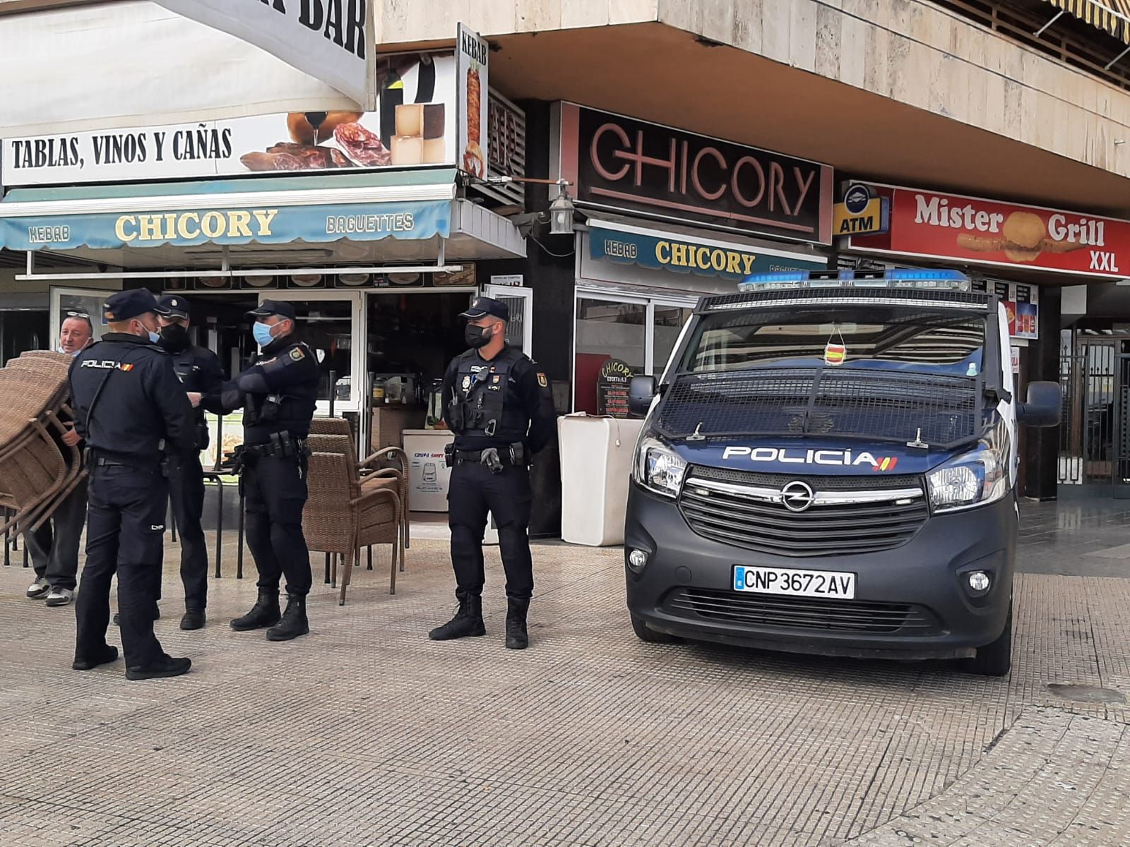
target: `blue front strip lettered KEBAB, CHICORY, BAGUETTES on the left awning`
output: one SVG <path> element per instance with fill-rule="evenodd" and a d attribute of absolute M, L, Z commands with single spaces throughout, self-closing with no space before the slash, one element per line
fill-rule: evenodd
<path fill-rule="evenodd" d="M 0 247 L 155 247 L 447 237 L 451 203 L 344 203 L 0 218 Z"/>

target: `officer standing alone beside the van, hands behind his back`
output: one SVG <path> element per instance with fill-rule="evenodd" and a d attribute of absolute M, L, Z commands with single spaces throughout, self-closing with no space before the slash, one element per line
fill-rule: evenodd
<path fill-rule="evenodd" d="M 546 375 L 506 346 L 510 309 L 477 297 L 466 317 L 467 352 L 447 366 L 443 408 L 455 433 L 449 448 L 447 523 L 459 611 L 428 637 L 444 641 L 486 634 L 483 623 L 483 533 L 487 513 L 498 526 L 506 570 L 506 646 L 524 649 L 533 593 L 530 558 L 530 457 L 549 444 L 556 414 Z"/>

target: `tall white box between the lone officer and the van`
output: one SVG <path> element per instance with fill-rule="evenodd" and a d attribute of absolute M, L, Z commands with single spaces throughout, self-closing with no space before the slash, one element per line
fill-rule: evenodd
<path fill-rule="evenodd" d="M 557 419 L 562 460 L 562 540 L 610 547 L 624 543 L 632 455 L 642 420 Z"/>

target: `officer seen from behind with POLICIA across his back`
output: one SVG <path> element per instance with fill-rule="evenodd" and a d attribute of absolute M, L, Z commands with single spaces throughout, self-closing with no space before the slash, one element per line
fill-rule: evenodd
<path fill-rule="evenodd" d="M 113 662 L 106 644 L 110 582 L 118 573 L 125 675 L 177 676 L 192 662 L 172 658 L 153 632 L 164 564 L 166 448 L 195 445 L 192 405 L 157 346 L 156 298 L 144 288 L 110 297 L 108 332 L 70 369 L 75 421 L 87 445 L 89 512 L 86 567 L 76 604 L 76 671 Z"/>

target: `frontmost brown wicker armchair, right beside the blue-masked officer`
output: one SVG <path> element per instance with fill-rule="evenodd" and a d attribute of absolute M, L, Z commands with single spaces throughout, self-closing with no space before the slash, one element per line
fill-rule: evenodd
<path fill-rule="evenodd" d="M 306 474 L 310 498 L 303 512 L 306 545 L 318 552 L 346 558 L 338 603 L 345 605 L 346 588 L 363 547 L 392 545 L 389 594 L 397 593 L 397 565 L 405 556 L 400 497 L 391 488 L 362 491 L 357 465 L 342 453 L 312 453 Z"/>

